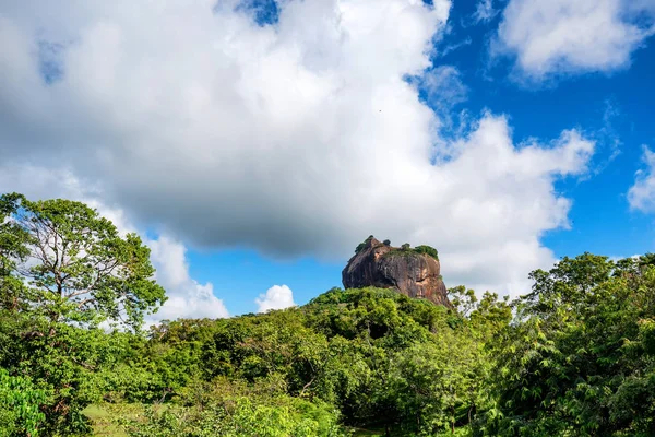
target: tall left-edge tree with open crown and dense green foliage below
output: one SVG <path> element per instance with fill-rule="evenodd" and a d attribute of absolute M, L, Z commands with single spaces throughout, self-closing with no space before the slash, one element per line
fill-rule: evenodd
<path fill-rule="evenodd" d="M 0 369 L 34 386 L 21 414 L 38 418 L 39 435 L 90 430 L 81 412 L 109 391 L 106 376 L 126 368 L 123 351 L 139 338 L 97 326 L 109 319 L 139 330 L 165 300 L 153 274 L 141 239 L 85 204 L 0 197 Z"/>

